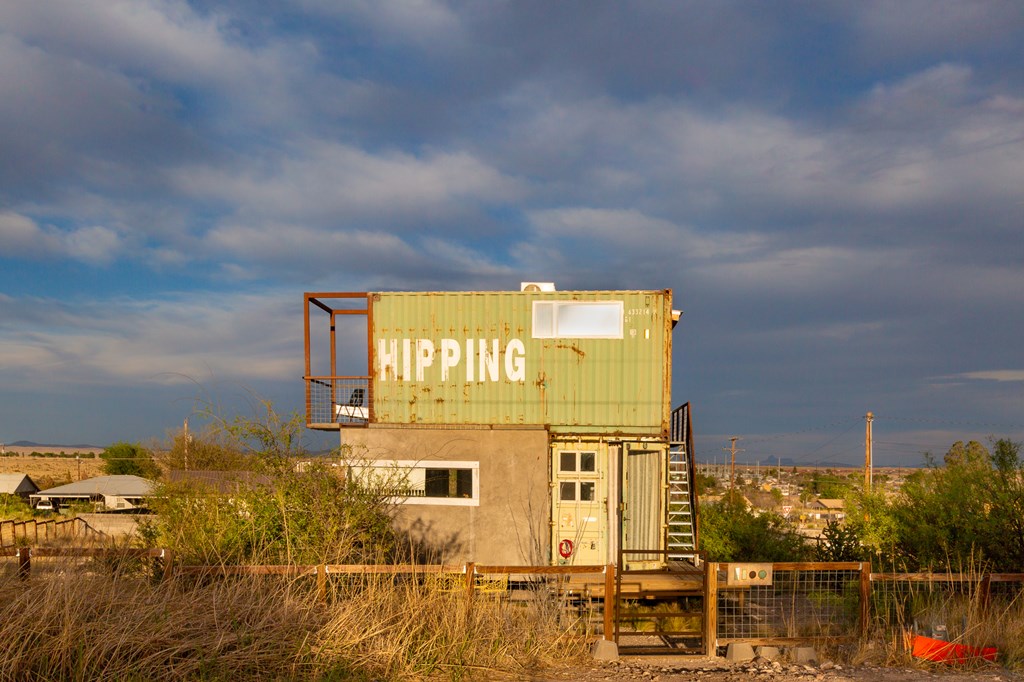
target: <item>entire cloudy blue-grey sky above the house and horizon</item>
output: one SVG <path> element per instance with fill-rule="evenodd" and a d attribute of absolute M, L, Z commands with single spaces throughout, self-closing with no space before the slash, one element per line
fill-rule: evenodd
<path fill-rule="evenodd" d="M 0 5 L 0 441 L 301 404 L 302 292 L 672 288 L 698 458 L 1024 439 L 1015 2 Z"/>

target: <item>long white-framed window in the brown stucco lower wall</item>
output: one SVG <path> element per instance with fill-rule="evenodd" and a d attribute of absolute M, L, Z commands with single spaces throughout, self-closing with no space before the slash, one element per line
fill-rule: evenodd
<path fill-rule="evenodd" d="M 350 471 L 397 504 L 480 506 L 479 462 L 375 460 Z"/>

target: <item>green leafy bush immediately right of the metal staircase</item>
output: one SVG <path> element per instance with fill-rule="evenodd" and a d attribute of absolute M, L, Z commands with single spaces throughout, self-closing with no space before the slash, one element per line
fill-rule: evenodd
<path fill-rule="evenodd" d="M 810 556 L 804 538 L 772 512 L 755 514 L 738 495 L 702 506 L 700 549 L 709 561 L 801 561 Z"/>

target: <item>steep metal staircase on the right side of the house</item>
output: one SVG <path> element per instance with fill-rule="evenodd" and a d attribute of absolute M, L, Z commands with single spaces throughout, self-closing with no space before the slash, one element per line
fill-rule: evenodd
<path fill-rule="evenodd" d="M 682 561 L 697 548 L 697 499 L 693 483 L 693 431 L 690 403 L 672 411 L 669 450 L 669 560 Z"/>

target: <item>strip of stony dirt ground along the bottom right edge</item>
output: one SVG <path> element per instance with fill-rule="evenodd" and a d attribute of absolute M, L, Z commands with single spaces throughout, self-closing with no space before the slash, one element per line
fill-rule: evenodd
<path fill-rule="evenodd" d="M 709 656 L 623 656 L 615 663 L 590 662 L 585 666 L 545 671 L 528 679 L 537 682 L 1022 682 L 1024 674 L 991 665 L 976 670 L 956 670 L 938 664 L 930 668 L 880 668 L 841 666 L 822 662 L 816 666 L 756 659 L 732 664 Z"/>

